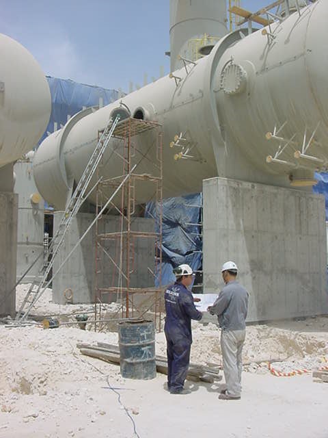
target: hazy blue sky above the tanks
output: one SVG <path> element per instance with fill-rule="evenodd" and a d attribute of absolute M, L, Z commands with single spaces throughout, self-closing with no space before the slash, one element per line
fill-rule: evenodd
<path fill-rule="evenodd" d="M 206 0 L 204 0 L 206 1 Z M 258 10 L 270 3 L 242 0 Z M 169 73 L 169 0 L 0 0 L 0 32 L 25 46 L 46 75 L 128 91 Z"/>

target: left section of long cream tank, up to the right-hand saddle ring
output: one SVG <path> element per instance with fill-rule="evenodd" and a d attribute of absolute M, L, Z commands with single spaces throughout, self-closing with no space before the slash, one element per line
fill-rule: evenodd
<path fill-rule="evenodd" d="M 174 78 L 163 77 L 155 83 L 141 88 L 95 112 L 92 109 L 71 118 L 63 129 L 51 134 L 40 145 L 34 160 L 33 172 L 36 185 L 46 201 L 57 209 L 64 209 L 66 196 L 72 181 L 79 181 L 83 170 L 97 142 L 98 129 L 103 129 L 113 110 L 124 103 L 132 116 L 148 120 L 158 120 L 163 125 L 163 178 L 164 195 L 175 196 L 177 192 L 195 193 L 202 190 L 202 180 L 216 175 L 215 156 L 208 124 L 204 118 L 204 71 L 206 58 L 197 62 L 192 74 L 186 70 L 178 70 L 176 75 L 182 79 L 176 86 Z M 174 136 L 183 132 L 193 146 L 193 160 L 174 161 L 175 149 L 169 147 Z M 154 142 L 154 132 L 144 133 L 135 143 L 136 161 L 139 173 L 152 173 L 155 156 L 143 155 Z M 105 153 L 105 166 L 102 166 L 104 177 L 122 175 L 122 159 L 114 151 L 122 155 L 124 144 L 120 140 L 111 140 Z M 154 148 L 151 152 L 154 152 Z M 96 182 L 94 178 L 90 186 Z M 143 203 L 152 194 L 150 185 L 144 191 L 137 191 L 137 202 Z M 95 195 L 90 196 L 95 202 Z"/>

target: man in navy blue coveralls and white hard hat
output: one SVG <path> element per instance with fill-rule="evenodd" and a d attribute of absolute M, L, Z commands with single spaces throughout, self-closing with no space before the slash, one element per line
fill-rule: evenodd
<path fill-rule="evenodd" d="M 190 360 L 191 320 L 201 320 L 193 296 L 188 289 L 193 283 L 193 270 L 189 265 L 174 269 L 176 283 L 165 291 L 165 337 L 167 340 L 167 389 L 171 394 L 188 394 L 183 388 Z"/>

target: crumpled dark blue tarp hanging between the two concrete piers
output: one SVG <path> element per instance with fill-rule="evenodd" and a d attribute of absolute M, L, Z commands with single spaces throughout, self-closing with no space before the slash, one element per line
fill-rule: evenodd
<path fill-rule="evenodd" d="M 202 265 L 202 253 L 195 253 L 202 251 L 202 230 L 197 225 L 201 205 L 201 194 L 163 201 L 162 285 L 174 282 L 173 268 L 176 266 L 188 263 L 193 270 L 198 270 Z M 145 216 L 154 218 L 158 223 L 154 203 L 148 203 Z M 158 281 L 155 284 L 158 286 Z"/>

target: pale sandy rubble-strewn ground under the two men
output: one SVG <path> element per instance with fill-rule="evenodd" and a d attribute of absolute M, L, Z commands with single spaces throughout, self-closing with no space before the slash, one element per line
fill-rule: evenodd
<path fill-rule="evenodd" d="M 40 311 L 49 310 L 49 296 Z M 57 305 L 50 305 L 56 311 Z M 193 361 L 221 363 L 215 324 L 193 324 L 193 337 Z M 191 394 L 172 396 L 165 376 L 124 379 L 117 365 L 81 356 L 76 347 L 117 340 L 117 333 L 68 326 L 0 326 L 0 438 L 328 438 L 328 384 L 311 374 L 277 378 L 264 362 L 284 359 L 275 363 L 284 371 L 323 365 L 328 318 L 249 326 L 244 361 L 250 364 L 244 367 L 240 401 L 218 400 L 224 378 L 213 385 L 187 383 Z M 165 352 L 163 333 L 156 335 L 156 352 Z"/>

